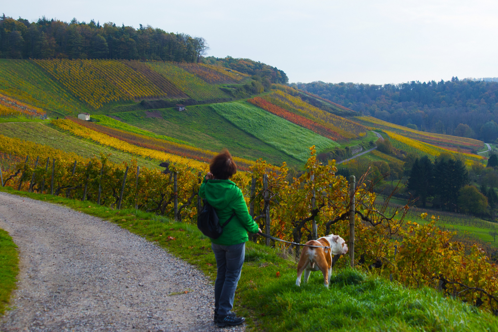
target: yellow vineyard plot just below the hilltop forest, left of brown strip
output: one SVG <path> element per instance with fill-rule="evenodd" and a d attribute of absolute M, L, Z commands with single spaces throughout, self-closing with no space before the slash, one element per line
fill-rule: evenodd
<path fill-rule="evenodd" d="M 145 76 L 117 60 L 33 60 L 94 109 L 135 98 L 164 96 Z"/>

